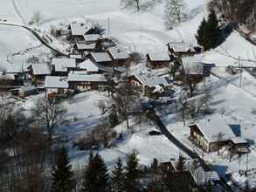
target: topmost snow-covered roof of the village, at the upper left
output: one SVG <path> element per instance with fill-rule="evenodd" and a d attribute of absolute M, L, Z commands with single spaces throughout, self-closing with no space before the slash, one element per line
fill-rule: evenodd
<path fill-rule="evenodd" d="M 72 22 L 70 24 L 71 33 L 73 36 L 83 36 L 87 31 L 91 30 L 93 25 L 89 22 L 86 24 L 81 22 Z"/>

